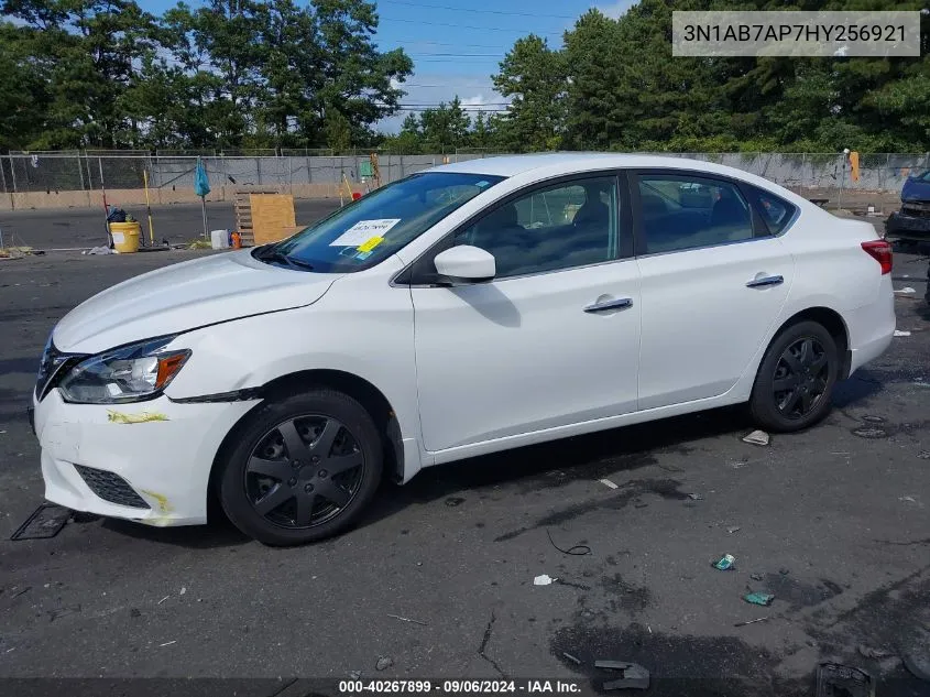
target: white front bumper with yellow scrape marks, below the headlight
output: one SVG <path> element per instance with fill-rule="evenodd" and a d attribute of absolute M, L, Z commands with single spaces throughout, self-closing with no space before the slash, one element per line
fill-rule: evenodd
<path fill-rule="evenodd" d="M 177 404 L 166 396 L 68 404 L 53 390 L 34 404 L 45 498 L 149 525 L 206 523 L 216 454 L 254 404 Z"/>

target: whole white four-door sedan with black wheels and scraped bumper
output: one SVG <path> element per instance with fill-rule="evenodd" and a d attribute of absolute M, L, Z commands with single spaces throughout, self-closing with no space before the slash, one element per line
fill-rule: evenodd
<path fill-rule="evenodd" d="M 275 244 L 107 290 L 33 399 L 48 500 L 267 544 L 383 477 L 747 403 L 811 426 L 889 345 L 874 228 L 708 162 L 546 154 L 390 184 Z"/>

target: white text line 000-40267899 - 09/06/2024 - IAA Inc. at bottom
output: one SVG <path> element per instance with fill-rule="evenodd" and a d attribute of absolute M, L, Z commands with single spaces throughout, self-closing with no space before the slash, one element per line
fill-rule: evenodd
<path fill-rule="evenodd" d="M 448 695 L 490 695 L 490 694 L 578 694 L 581 691 L 579 683 L 572 680 L 340 680 L 339 693 L 343 695 L 362 695 L 365 693 L 395 694 L 428 694 L 442 693 Z"/>

